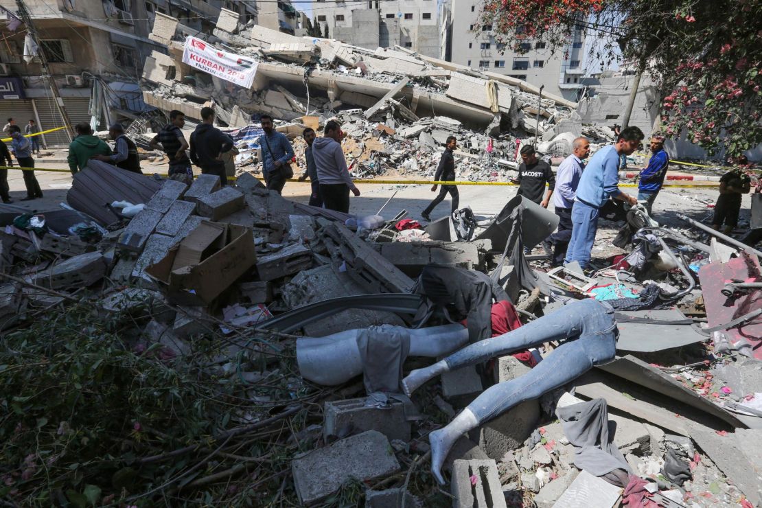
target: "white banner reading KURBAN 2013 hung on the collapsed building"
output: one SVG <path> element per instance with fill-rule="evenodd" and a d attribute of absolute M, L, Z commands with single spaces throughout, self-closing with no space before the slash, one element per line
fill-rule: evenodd
<path fill-rule="evenodd" d="M 251 88 L 259 65 L 254 59 L 219 51 L 196 37 L 185 40 L 183 62 L 243 88 Z"/>

